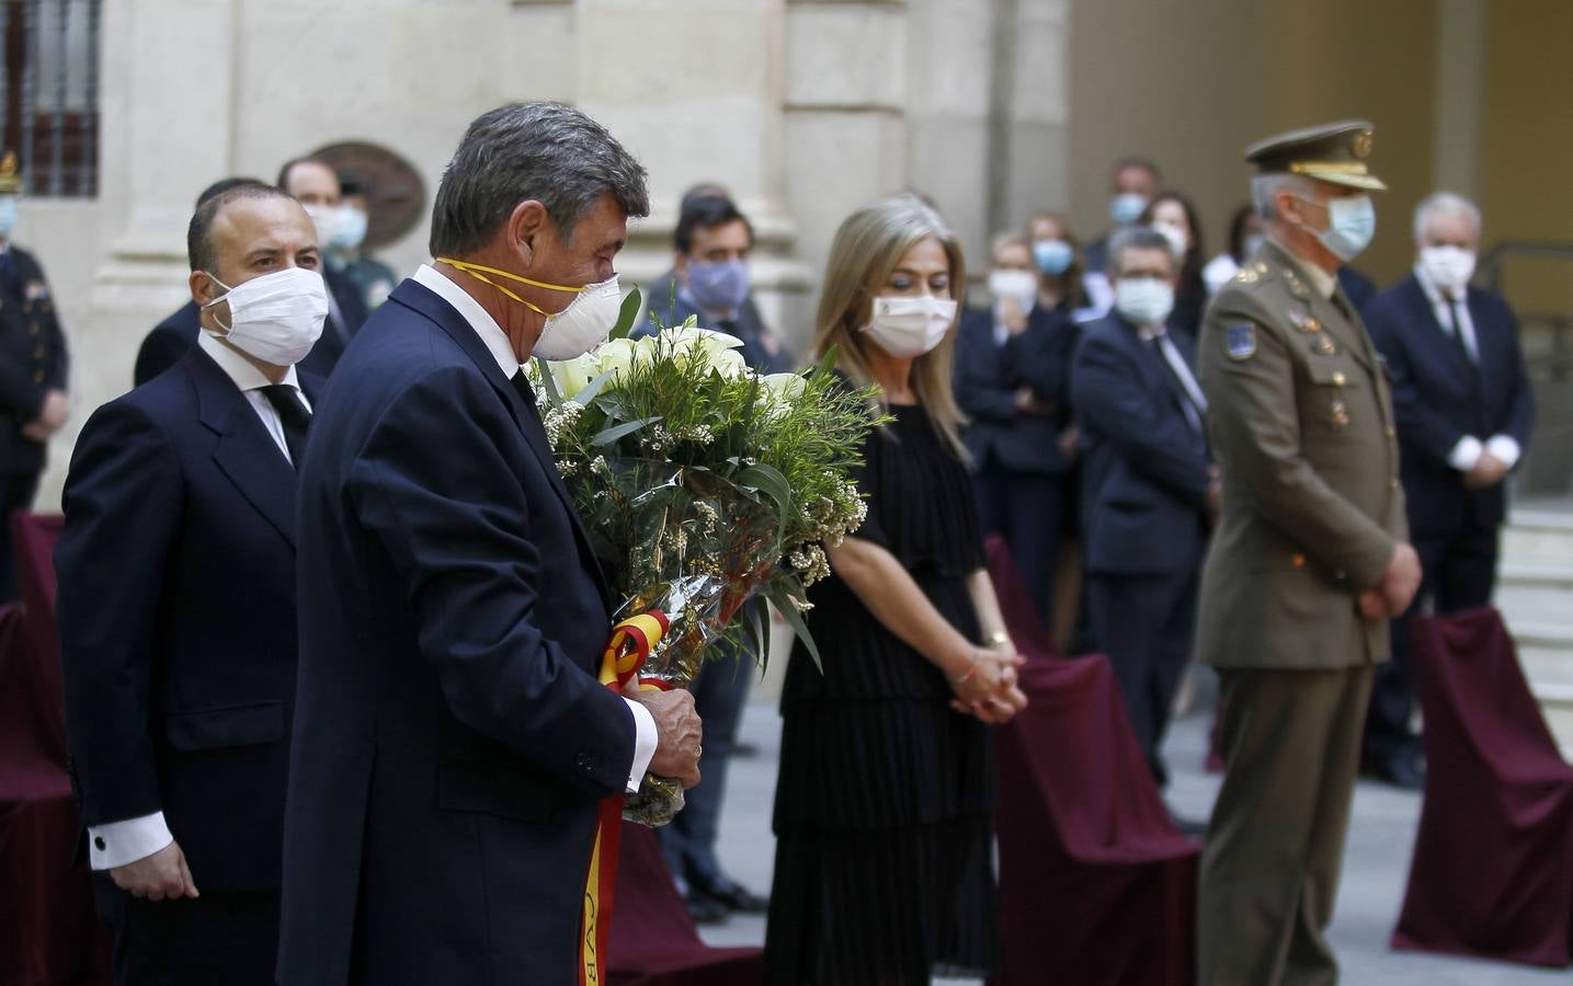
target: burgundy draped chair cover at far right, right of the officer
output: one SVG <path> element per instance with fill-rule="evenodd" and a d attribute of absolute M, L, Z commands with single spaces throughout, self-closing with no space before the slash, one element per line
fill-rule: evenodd
<path fill-rule="evenodd" d="M 1392 945 L 1567 966 L 1573 767 L 1494 609 L 1411 626 L 1425 804 Z"/>

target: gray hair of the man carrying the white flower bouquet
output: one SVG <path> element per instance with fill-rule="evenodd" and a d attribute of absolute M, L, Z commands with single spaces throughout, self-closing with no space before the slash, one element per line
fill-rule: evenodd
<path fill-rule="evenodd" d="M 565 241 L 610 192 L 629 217 L 650 214 L 645 168 L 606 127 L 562 102 L 514 102 L 481 113 L 442 171 L 431 255 L 469 253 L 521 201 L 535 200 Z"/>

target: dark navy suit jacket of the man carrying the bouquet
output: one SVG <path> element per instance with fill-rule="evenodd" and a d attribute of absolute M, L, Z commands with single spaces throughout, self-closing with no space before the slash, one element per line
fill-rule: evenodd
<path fill-rule="evenodd" d="M 612 601 L 533 401 L 414 280 L 313 420 L 299 572 L 280 983 L 573 983 Z"/>

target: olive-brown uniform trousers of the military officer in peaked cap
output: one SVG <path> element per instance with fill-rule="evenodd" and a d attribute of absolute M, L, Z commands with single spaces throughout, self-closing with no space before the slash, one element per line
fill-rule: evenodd
<path fill-rule="evenodd" d="M 1197 981 L 1332 986 L 1339 892 L 1372 665 L 1219 668 L 1224 786 L 1197 901 Z"/>

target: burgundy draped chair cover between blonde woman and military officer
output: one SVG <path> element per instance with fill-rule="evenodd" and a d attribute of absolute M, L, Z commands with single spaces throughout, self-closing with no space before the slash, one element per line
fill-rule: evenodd
<path fill-rule="evenodd" d="M 1008 602 L 1019 579 L 993 543 L 989 571 L 1029 657 L 1027 709 L 997 731 L 1002 948 L 993 984 L 1189 986 L 1200 846 L 1169 818 L 1107 659 L 1030 648 Z"/>

